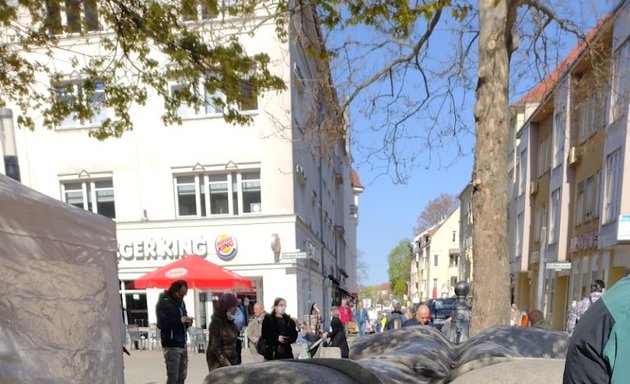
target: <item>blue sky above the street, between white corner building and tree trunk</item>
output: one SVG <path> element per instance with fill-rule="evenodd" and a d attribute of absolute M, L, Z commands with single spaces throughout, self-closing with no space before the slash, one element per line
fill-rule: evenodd
<path fill-rule="evenodd" d="M 602 17 L 607 10 L 617 3 L 617 0 L 582 0 L 582 2 L 585 8 L 597 10 L 592 13 L 584 11 L 574 13 L 572 19 L 578 25 L 590 28 L 596 19 Z M 558 4 L 568 6 L 569 9 L 576 9 L 572 1 L 561 1 Z M 371 39 L 369 35 L 365 36 L 368 40 Z M 567 38 L 565 43 L 556 51 L 558 61 L 562 60 L 568 51 L 575 46 L 576 39 L 575 37 Z M 368 64 L 372 63 L 368 62 Z M 527 92 L 527 89 L 530 89 L 527 87 L 535 86 L 540 80 L 540 78 L 536 79 L 536 76 L 532 77 L 533 80 L 530 80 L 530 84 L 520 84 L 521 87 L 524 87 L 520 94 L 512 92 L 512 100 L 520 98 Z M 461 111 L 468 120 L 465 123 L 469 126 L 473 126 L 471 121 L 472 101 L 474 100 L 468 100 L 467 105 Z M 378 111 L 373 113 L 371 117 L 378 119 Z M 415 126 L 411 128 L 417 129 L 419 125 L 426 124 L 423 119 L 427 120 L 427 117 L 418 118 L 415 123 L 412 123 Z M 427 203 L 442 193 L 458 196 L 466 187 L 472 173 L 474 138 L 472 135 L 464 136 L 462 139 L 465 147 L 464 155 L 458 157 L 448 167 L 440 166 L 436 164 L 436 161 L 426 161 L 426 159 L 436 155 L 453 158 L 448 153 L 453 151 L 452 144 L 446 145 L 442 149 L 433 149 L 432 152 L 419 151 L 419 157 L 424 161 L 420 161 L 420 165 L 410 169 L 406 184 L 395 184 L 391 177 L 383 175 L 379 169 L 374 169 L 383 166 L 383 160 L 366 161 L 365 156 L 360 153 L 361 151 L 357 146 L 357 143 L 378 143 L 378 140 L 382 140 L 382 136 L 379 136 L 378 132 L 368 129 L 374 123 L 370 121 L 370 118 L 361 116 L 358 113 L 358 108 L 354 110 L 351 108 L 350 120 L 355 143 L 353 145 L 354 168 L 358 171 L 365 187 L 365 191 L 359 198 L 357 249 L 360 261 L 367 266 L 367 276 L 359 276 L 359 283 L 361 285 L 374 285 L 388 282 L 387 256 L 400 240 L 413 238 L 416 220 Z M 413 145 L 413 140 L 403 145 Z"/>

